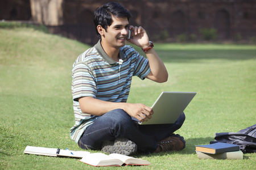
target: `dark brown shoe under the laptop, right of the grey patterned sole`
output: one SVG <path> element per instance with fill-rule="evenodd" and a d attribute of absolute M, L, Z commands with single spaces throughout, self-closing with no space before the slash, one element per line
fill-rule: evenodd
<path fill-rule="evenodd" d="M 180 151 L 185 148 L 184 138 L 178 134 L 172 134 L 170 137 L 157 142 L 158 148 L 155 152 Z"/>

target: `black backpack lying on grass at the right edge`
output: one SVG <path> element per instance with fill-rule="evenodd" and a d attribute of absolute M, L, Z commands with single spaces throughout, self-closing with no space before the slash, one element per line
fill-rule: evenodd
<path fill-rule="evenodd" d="M 242 152 L 256 152 L 256 124 L 237 133 L 216 133 L 214 141 L 210 143 L 223 142 L 240 146 Z"/>

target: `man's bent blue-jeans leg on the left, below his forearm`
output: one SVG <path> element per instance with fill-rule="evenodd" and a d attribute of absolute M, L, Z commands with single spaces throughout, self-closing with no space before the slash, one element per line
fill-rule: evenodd
<path fill-rule="evenodd" d="M 78 144 L 84 149 L 99 148 L 102 141 L 127 138 L 127 134 L 134 131 L 133 126 L 129 114 L 122 109 L 115 109 L 98 117 L 88 126 Z"/>

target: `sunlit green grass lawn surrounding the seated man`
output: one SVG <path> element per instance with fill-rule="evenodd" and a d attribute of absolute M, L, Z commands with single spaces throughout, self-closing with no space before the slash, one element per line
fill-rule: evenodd
<path fill-rule="evenodd" d="M 89 46 L 32 28 L 0 29 L 0 40 L 0 169 L 93 168 L 79 159 L 23 154 L 28 145 L 81 150 L 69 138 L 75 122 L 71 69 Z M 177 131 L 187 147 L 134 156 L 151 163 L 145 167 L 98 169 L 255 169 L 256 154 L 244 154 L 243 160 L 199 160 L 195 145 L 209 144 L 214 133 L 256 123 L 256 46 L 155 44 L 155 49 L 169 79 L 158 84 L 134 77 L 129 102 L 151 106 L 162 91 L 197 92 Z"/>

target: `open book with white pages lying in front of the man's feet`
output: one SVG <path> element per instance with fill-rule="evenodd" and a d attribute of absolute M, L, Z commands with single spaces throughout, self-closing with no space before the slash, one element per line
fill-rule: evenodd
<path fill-rule="evenodd" d="M 150 165 L 147 160 L 133 158 L 121 154 L 93 153 L 84 156 L 80 162 L 93 165 L 94 167 L 122 166 L 124 165 Z"/>

